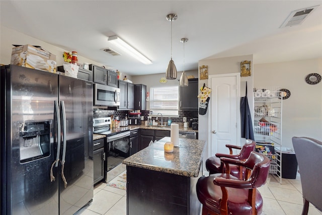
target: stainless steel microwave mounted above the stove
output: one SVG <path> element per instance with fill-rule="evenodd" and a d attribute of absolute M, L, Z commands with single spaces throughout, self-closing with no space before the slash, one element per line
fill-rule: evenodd
<path fill-rule="evenodd" d="M 107 85 L 94 84 L 93 105 L 119 106 L 120 89 Z"/>

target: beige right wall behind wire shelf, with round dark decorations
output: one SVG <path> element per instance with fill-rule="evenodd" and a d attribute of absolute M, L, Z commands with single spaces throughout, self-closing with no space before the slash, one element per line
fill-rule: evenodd
<path fill-rule="evenodd" d="M 293 148 L 293 136 L 322 140 L 322 82 L 309 85 L 310 73 L 322 75 L 322 58 L 255 64 L 254 87 L 279 86 L 291 96 L 283 100 L 282 145 Z"/>

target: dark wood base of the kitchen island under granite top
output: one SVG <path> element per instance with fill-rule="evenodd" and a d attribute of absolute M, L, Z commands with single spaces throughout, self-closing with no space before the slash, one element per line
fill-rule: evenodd
<path fill-rule="evenodd" d="M 199 214 L 201 204 L 196 194 L 199 177 L 132 166 L 126 166 L 126 171 L 127 215 Z M 201 171 L 199 175 L 201 176 Z"/>

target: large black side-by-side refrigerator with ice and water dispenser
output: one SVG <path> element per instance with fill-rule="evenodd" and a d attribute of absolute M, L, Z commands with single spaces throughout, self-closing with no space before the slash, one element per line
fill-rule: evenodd
<path fill-rule="evenodd" d="M 73 214 L 93 199 L 93 85 L 1 66 L 1 214 Z"/>

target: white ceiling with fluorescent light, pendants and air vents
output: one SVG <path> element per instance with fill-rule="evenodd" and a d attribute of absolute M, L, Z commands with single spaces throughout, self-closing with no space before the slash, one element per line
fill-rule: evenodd
<path fill-rule="evenodd" d="M 171 58 L 178 71 L 198 60 L 254 55 L 254 63 L 322 57 L 322 6 L 299 26 L 279 28 L 294 10 L 322 1 L 0 1 L 1 25 L 129 75 L 164 73 Z M 110 44 L 118 35 L 153 63 Z M 101 49 L 121 53 L 112 56 Z"/>

